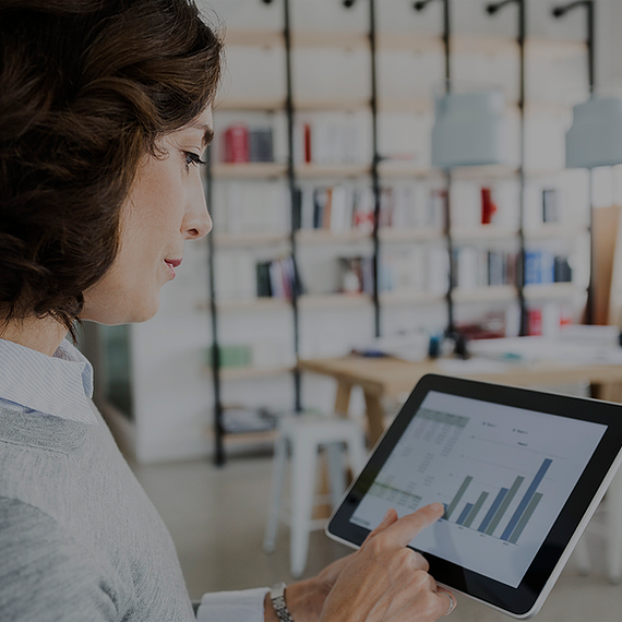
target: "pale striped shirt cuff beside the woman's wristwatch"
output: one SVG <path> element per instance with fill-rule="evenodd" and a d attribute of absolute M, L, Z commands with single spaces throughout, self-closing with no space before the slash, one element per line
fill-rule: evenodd
<path fill-rule="evenodd" d="M 267 587 L 205 594 L 196 611 L 198 622 L 263 622 Z"/>

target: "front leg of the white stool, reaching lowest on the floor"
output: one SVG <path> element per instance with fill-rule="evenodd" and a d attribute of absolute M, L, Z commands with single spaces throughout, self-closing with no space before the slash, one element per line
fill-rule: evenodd
<path fill-rule="evenodd" d="M 318 446 L 303 440 L 291 446 L 291 524 L 289 566 L 298 578 L 307 566 L 309 531 L 315 497 Z"/>

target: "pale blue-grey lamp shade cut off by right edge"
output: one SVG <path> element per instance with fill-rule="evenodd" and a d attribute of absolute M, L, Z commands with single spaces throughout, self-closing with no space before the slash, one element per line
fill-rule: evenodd
<path fill-rule="evenodd" d="M 566 167 L 622 164 L 622 99 L 595 97 L 574 106 L 566 133 Z"/>

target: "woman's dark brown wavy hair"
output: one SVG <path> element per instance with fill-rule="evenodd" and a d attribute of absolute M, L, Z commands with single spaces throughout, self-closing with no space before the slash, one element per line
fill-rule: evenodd
<path fill-rule="evenodd" d="M 0 322 L 73 333 L 140 159 L 212 103 L 222 56 L 192 0 L 0 0 Z"/>

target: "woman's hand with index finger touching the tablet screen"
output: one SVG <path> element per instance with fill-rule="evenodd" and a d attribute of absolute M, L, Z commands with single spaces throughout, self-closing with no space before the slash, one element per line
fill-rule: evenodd
<path fill-rule="evenodd" d="M 443 512 L 434 503 L 398 519 L 391 510 L 360 550 L 347 558 L 326 598 L 322 622 L 429 622 L 446 615 L 454 608 L 453 596 L 436 587 L 428 562 L 406 548 Z"/>

